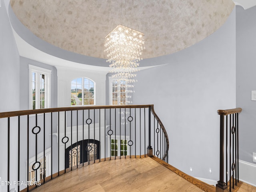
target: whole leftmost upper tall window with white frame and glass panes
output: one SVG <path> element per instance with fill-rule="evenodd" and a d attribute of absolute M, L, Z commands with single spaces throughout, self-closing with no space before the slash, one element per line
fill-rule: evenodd
<path fill-rule="evenodd" d="M 29 65 L 30 69 L 30 103 L 31 109 L 50 107 L 50 73 L 51 70 Z"/>

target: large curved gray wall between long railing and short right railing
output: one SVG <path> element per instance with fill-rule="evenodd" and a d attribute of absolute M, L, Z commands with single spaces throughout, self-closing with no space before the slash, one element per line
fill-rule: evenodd
<path fill-rule="evenodd" d="M 137 75 L 133 104 L 154 104 L 168 132 L 169 163 L 192 176 L 219 180 L 216 111 L 236 107 L 235 17 L 233 10 L 212 35 Z"/>

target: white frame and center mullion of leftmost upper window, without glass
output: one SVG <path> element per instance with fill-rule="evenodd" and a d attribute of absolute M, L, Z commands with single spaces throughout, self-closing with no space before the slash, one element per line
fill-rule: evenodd
<path fill-rule="evenodd" d="M 48 70 L 45 68 L 41 68 L 34 65 L 28 65 L 29 67 L 29 109 L 33 109 L 33 97 L 32 97 L 32 72 L 35 73 L 36 78 L 36 88 L 35 91 L 40 93 L 40 74 L 44 74 L 45 76 L 45 88 L 44 88 L 44 108 L 50 108 L 51 106 L 51 97 L 50 97 L 50 90 L 51 90 L 51 74 L 52 70 Z M 35 109 L 40 108 L 40 94 L 36 94 L 35 98 Z"/>

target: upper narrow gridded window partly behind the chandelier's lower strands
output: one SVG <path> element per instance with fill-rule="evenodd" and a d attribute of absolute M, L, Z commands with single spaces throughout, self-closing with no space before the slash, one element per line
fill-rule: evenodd
<path fill-rule="evenodd" d="M 111 88 L 111 105 L 125 105 L 128 91 L 125 80 L 111 80 Z"/>

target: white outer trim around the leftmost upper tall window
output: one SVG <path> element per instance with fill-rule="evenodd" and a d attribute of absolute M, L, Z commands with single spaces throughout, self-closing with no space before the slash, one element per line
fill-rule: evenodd
<path fill-rule="evenodd" d="M 52 70 L 48 70 L 45 68 L 37 67 L 34 65 L 28 65 L 29 68 L 29 109 L 32 109 L 32 72 L 36 73 L 43 73 L 46 75 L 46 90 L 44 96 L 46 96 L 46 103 L 44 103 L 44 108 L 50 108 L 51 106 L 51 97 L 50 97 L 50 90 L 51 90 L 51 74 Z M 37 106 L 37 104 L 36 104 Z M 39 109 L 36 107 L 36 109 Z"/>

